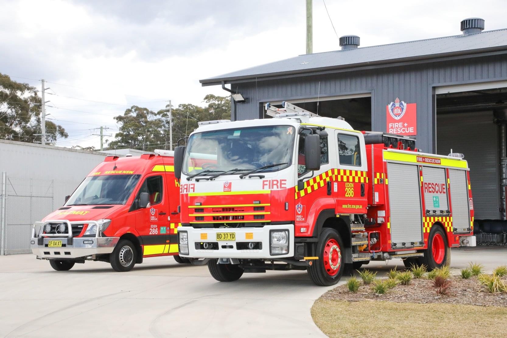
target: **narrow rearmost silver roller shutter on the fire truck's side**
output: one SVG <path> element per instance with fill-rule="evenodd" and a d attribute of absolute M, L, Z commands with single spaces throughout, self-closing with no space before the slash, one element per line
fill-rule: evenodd
<path fill-rule="evenodd" d="M 451 183 L 452 227 L 456 233 L 465 233 L 470 228 L 466 172 L 449 169 L 449 180 Z"/>

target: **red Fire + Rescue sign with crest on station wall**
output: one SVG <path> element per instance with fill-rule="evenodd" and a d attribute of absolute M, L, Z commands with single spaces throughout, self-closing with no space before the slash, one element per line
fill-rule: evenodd
<path fill-rule="evenodd" d="M 399 135 L 417 134 L 416 103 L 405 103 L 396 97 L 386 106 L 387 132 Z"/>

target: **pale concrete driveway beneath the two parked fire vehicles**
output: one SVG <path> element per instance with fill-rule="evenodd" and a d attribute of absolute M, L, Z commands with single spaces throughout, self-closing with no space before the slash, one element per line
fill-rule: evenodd
<path fill-rule="evenodd" d="M 507 248 L 453 250 L 453 268 L 469 261 L 490 271 L 507 264 Z M 380 276 L 396 265 L 402 261 L 366 267 Z M 172 257 L 117 273 L 103 262 L 56 272 L 31 254 L 1 256 L 0 336 L 324 336 L 310 308 L 330 288 L 313 285 L 305 272 L 219 283 L 207 267 L 179 265 Z"/>

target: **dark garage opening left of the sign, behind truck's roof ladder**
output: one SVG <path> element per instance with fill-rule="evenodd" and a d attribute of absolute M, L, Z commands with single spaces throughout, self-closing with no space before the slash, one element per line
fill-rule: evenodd
<path fill-rule="evenodd" d="M 322 117 L 342 117 L 355 130 L 372 130 L 372 98 L 371 97 L 348 97 L 348 98 L 322 98 L 317 100 L 295 100 L 288 101 L 298 107 L 314 112 Z M 271 102 L 276 107 L 281 107 L 281 102 Z M 265 119 L 271 118 L 266 115 L 264 106 L 262 116 Z"/>

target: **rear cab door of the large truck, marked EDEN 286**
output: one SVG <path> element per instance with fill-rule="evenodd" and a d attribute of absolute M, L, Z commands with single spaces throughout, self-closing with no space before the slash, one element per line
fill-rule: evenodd
<path fill-rule="evenodd" d="M 356 132 L 336 130 L 334 142 L 338 157 L 338 170 L 333 182 L 336 213 L 366 213 L 368 165 L 364 137 Z"/>

